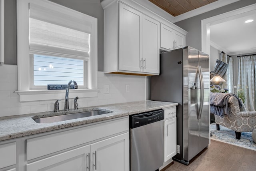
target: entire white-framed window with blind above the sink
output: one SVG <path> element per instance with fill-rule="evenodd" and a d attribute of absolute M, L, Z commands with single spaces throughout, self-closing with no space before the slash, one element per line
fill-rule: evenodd
<path fill-rule="evenodd" d="M 60 91 L 47 84 L 70 80 L 82 97 L 97 95 L 96 18 L 47 0 L 17 1 L 17 45 L 20 101 L 56 99 Z M 34 95 L 42 92 L 52 95 Z"/>

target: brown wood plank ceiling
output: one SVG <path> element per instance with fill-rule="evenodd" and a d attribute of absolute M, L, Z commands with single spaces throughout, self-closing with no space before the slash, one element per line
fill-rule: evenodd
<path fill-rule="evenodd" d="M 200 8 L 217 0 L 149 0 L 172 16 L 178 16 L 188 11 Z"/>

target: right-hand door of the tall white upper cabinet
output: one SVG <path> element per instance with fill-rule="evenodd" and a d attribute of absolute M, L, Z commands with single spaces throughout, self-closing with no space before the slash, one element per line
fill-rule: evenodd
<path fill-rule="evenodd" d="M 159 74 L 160 23 L 142 15 L 143 72 Z"/>

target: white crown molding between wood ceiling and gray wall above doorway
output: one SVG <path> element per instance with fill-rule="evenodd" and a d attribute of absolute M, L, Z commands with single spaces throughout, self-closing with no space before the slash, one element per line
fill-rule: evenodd
<path fill-rule="evenodd" d="M 202 6 L 200 8 L 196 8 L 192 11 L 186 12 L 184 14 L 180 14 L 180 15 L 174 17 L 173 22 L 175 23 L 175 22 L 179 22 L 179 21 L 182 21 L 182 20 L 186 20 L 188 18 L 197 16 L 199 14 L 203 14 L 205 12 L 214 10 L 216 8 L 220 8 L 220 7 L 228 5 L 228 4 L 232 4 L 232 3 L 237 2 L 237 1 L 240 1 L 240 0 L 218 0 L 218 1 L 212 2 L 208 5 Z"/>

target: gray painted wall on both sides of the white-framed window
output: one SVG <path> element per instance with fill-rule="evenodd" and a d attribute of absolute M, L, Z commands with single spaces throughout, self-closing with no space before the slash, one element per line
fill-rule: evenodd
<path fill-rule="evenodd" d="M 50 0 L 57 4 L 98 18 L 98 71 L 103 71 L 103 9 L 100 0 Z M 16 0 L 5 0 L 4 64 L 17 65 Z"/>

